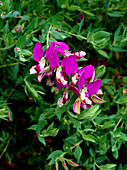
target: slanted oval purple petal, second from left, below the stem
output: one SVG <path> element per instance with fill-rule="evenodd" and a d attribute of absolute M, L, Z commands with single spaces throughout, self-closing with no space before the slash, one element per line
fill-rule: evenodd
<path fill-rule="evenodd" d="M 54 50 L 55 50 L 55 44 L 52 43 L 45 52 L 45 58 L 47 59 L 47 61 L 50 60 L 51 56 L 54 53 Z"/>

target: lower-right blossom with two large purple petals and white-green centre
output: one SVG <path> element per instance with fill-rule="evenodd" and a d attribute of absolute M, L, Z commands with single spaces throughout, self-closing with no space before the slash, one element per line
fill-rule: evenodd
<path fill-rule="evenodd" d="M 97 96 L 98 94 L 102 94 L 100 90 L 102 81 L 101 79 L 93 80 L 94 67 L 92 65 L 88 65 L 82 68 L 82 70 L 79 70 L 79 75 L 78 88 L 69 85 L 69 90 L 78 95 L 75 103 L 73 104 L 73 111 L 77 114 L 80 114 L 81 106 L 86 109 L 93 106 L 93 103 L 101 104 L 105 102 Z M 92 82 L 89 82 L 89 79 L 92 79 Z M 85 82 L 87 82 L 86 87 L 84 87 Z"/>

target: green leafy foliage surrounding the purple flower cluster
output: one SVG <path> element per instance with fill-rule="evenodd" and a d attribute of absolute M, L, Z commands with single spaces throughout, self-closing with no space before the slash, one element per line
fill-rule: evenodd
<path fill-rule="evenodd" d="M 127 169 L 126 0 L 0 1 L 1 169 Z M 21 26 L 19 32 L 16 26 Z M 73 113 L 76 95 L 58 94 L 30 75 L 34 45 L 62 41 L 86 51 L 106 103 Z M 106 66 L 106 67 L 105 67 Z M 124 159 L 123 159 L 124 158 Z M 63 167 L 62 167 L 63 165 Z"/>

